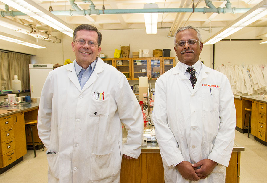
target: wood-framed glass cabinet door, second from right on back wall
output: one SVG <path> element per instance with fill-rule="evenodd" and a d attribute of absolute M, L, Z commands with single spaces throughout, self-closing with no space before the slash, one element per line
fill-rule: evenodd
<path fill-rule="evenodd" d="M 154 57 L 154 58 L 149 58 L 149 60 L 150 60 L 149 77 L 150 79 L 157 79 L 162 74 L 162 69 L 161 69 L 162 58 Z"/>

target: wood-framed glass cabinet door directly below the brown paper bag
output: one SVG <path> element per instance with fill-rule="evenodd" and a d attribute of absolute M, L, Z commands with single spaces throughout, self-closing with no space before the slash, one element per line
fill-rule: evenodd
<path fill-rule="evenodd" d="M 114 67 L 123 73 L 128 80 L 131 80 L 131 58 L 114 58 Z"/>

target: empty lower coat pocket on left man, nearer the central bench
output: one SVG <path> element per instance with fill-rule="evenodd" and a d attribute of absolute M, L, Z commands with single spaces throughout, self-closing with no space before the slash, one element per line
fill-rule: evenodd
<path fill-rule="evenodd" d="M 113 152 L 109 154 L 92 154 L 90 158 L 91 181 L 96 182 L 112 177 L 114 166 L 112 161 Z"/>

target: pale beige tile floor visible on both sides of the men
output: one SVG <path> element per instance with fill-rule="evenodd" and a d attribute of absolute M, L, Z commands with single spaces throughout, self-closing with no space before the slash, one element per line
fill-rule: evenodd
<path fill-rule="evenodd" d="M 254 136 L 247 138 L 247 133 L 236 131 L 235 142 L 245 147 L 241 152 L 240 183 L 266 182 L 267 147 L 254 140 Z M 47 182 L 47 159 L 42 149 L 36 152 L 27 151 L 24 160 L 0 175 L 0 182 Z"/>

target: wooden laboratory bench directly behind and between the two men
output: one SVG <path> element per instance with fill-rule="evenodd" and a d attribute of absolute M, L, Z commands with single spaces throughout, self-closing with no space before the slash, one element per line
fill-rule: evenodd
<path fill-rule="evenodd" d="M 239 183 L 240 155 L 244 147 L 234 144 L 229 166 L 226 168 L 226 183 Z M 122 159 L 120 183 L 163 183 L 164 169 L 158 144 L 142 146 L 138 159 Z"/>

